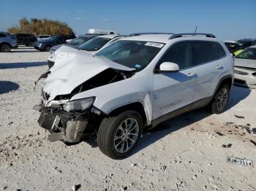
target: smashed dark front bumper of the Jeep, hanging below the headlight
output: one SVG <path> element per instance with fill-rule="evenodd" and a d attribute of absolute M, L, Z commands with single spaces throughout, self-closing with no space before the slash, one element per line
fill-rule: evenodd
<path fill-rule="evenodd" d="M 49 141 L 78 143 L 86 129 L 88 119 L 85 113 L 52 112 L 42 106 L 39 125 L 50 132 Z"/>

